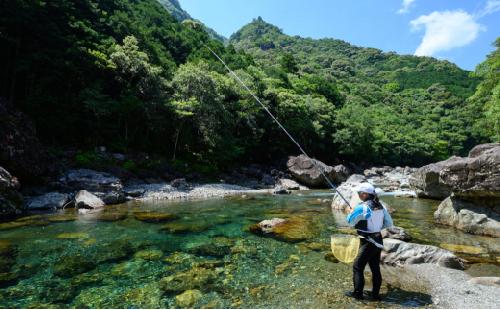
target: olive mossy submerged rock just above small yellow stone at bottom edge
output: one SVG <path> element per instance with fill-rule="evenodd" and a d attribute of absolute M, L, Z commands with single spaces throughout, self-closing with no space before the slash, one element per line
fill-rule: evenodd
<path fill-rule="evenodd" d="M 213 270 L 194 267 L 160 280 L 160 288 L 166 293 L 179 293 L 192 289 L 209 289 L 217 279 Z"/>

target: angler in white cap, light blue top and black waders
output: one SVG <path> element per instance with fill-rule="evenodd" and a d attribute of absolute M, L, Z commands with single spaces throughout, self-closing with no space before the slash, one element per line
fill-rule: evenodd
<path fill-rule="evenodd" d="M 363 272 L 366 264 L 369 264 L 373 279 L 371 298 L 380 300 L 379 291 L 382 284 L 380 254 L 383 248 L 380 231 L 392 226 L 392 218 L 379 201 L 373 185 L 366 182 L 361 183 L 356 190 L 362 202 L 354 210 L 351 210 L 351 213 L 347 216 L 347 222 L 356 228 L 358 235 L 361 237 L 361 242 L 358 256 L 353 265 L 354 291 L 348 292 L 346 295 L 356 299 L 363 299 L 363 287 L 365 286 Z"/>

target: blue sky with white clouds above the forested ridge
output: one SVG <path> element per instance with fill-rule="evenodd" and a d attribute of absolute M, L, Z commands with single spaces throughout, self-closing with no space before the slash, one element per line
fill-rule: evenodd
<path fill-rule="evenodd" d="M 500 0 L 180 0 L 193 18 L 232 33 L 261 16 L 289 35 L 335 38 L 473 70 L 500 36 Z"/>

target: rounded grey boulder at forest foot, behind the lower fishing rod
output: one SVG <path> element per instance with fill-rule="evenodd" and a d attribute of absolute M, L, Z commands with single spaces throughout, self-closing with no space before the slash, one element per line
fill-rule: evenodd
<path fill-rule="evenodd" d="M 309 159 L 305 155 L 290 156 L 287 167 L 295 179 L 311 187 L 328 186 L 321 172 L 334 183 L 341 183 L 349 176 L 349 169 L 344 165 L 328 166 L 319 160 Z"/>

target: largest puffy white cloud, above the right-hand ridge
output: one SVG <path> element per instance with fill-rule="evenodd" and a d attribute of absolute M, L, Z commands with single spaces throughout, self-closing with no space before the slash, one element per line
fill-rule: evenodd
<path fill-rule="evenodd" d="M 413 30 L 425 29 L 417 56 L 432 56 L 437 52 L 462 47 L 473 42 L 485 28 L 475 17 L 463 10 L 432 12 L 410 22 Z"/>

